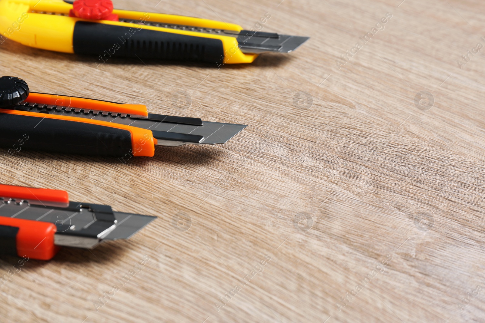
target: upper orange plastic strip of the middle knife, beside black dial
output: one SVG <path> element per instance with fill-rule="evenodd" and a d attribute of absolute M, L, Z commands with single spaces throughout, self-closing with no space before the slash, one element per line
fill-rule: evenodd
<path fill-rule="evenodd" d="M 92 110 L 136 114 L 147 116 L 146 106 L 142 104 L 119 104 L 108 101 L 85 99 L 75 96 L 30 92 L 24 102 L 50 104 L 59 107 L 88 108 Z"/>

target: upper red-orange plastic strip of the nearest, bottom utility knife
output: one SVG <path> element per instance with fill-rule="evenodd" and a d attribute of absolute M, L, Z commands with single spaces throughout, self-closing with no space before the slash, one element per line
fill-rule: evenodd
<path fill-rule="evenodd" d="M 0 197 L 10 199 L 21 199 L 34 202 L 35 204 L 48 204 L 49 206 L 69 206 L 69 195 L 66 191 L 31 188 L 14 185 L 0 184 Z"/>

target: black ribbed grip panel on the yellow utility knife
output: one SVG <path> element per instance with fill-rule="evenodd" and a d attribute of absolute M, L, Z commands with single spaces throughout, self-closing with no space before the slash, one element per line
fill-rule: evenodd
<path fill-rule="evenodd" d="M 220 65 L 224 47 L 220 39 L 188 36 L 173 32 L 106 25 L 78 21 L 74 27 L 73 47 L 76 54 L 141 59 L 206 62 Z"/>

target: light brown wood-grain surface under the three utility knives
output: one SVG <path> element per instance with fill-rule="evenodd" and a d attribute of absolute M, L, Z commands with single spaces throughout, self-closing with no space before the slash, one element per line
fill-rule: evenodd
<path fill-rule="evenodd" d="M 249 125 L 225 145 L 128 164 L 3 156 L 2 183 L 159 218 L 129 241 L 27 261 L 0 287 L 1 322 L 484 322 L 485 49 L 462 59 L 485 46 L 483 1 L 158 1 L 115 7 L 245 28 L 270 13 L 263 31 L 311 39 L 221 69 L 97 69 L 95 58 L 0 46 L 1 75 L 32 91 Z M 189 108 L 173 104 L 178 91 Z M 433 105 L 416 106 L 421 91 Z M 173 221 L 181 214 L 189 230 Z M 2 258 L 0 275 L 16 261 Z"/>

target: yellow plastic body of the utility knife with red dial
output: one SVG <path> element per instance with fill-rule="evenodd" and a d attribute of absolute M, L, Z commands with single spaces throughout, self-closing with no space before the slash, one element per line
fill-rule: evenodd
<path fill-rule="evenodd" d="M 64 53 L 74 53 L 72 45 L 74 25 L 77 21 L 86 20 L 67 16 L 71 9 L 72 4 L 64 2 L 63 0 L 0 0 L 0 44 L 7 38 L 10 38 L 13 41 L 26 46 Z M 41 14 L 40 12 L 65 15 L 47 15 Z M 118 15 L 120 18 L 140 21 L 146 20 L 167 24 L 242 31 L 242 27 L 235 24 L 182 15 L 144 13 L 128 10 L 113 10 L 113 14 Z M 220 39 L 224 46 L 224 64 L 250 63 L 258 57 L 256 54 L 243 53 L 239 48 L 236 37 L 110 20 L 97 20 L 96 22 L 107 25 L 118 25 L 137 29 L 142 28 L 196 37 Z M 96 35 L 93 35 L 93 37 L 96 37 Z"/>

